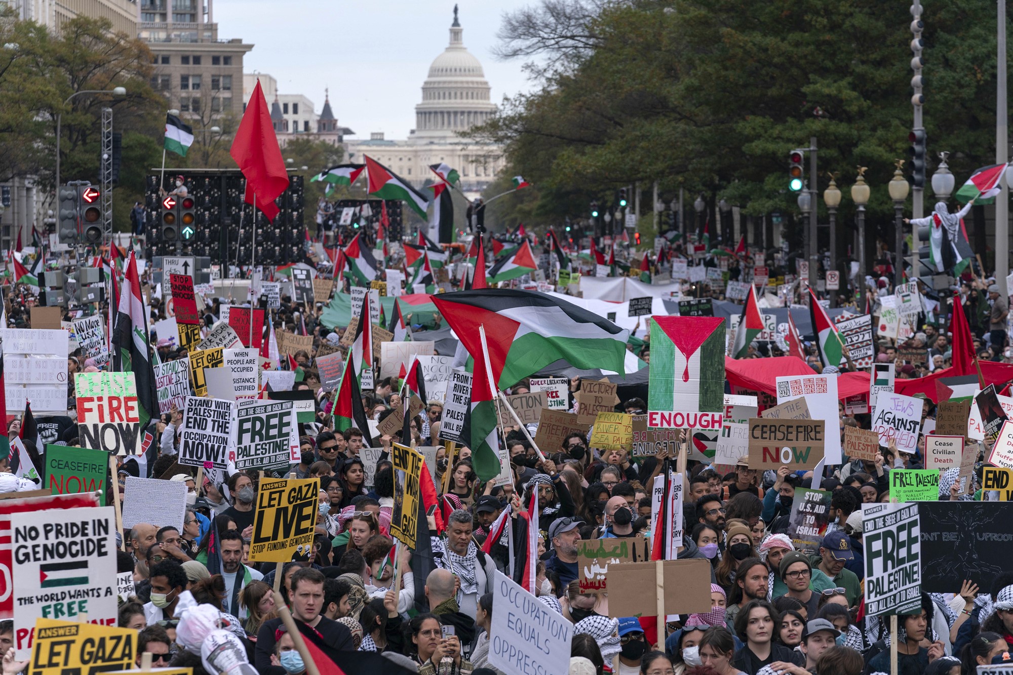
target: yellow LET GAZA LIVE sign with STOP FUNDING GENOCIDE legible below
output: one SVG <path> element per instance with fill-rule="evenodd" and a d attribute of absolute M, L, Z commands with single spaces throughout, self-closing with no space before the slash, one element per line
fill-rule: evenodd
<path fill-rule="evenodd" d="M 319 494 L 319 478 L 262 479 L 256 498 L 250 559 L 288 562 L 293 553 L 309 555 Z"/>

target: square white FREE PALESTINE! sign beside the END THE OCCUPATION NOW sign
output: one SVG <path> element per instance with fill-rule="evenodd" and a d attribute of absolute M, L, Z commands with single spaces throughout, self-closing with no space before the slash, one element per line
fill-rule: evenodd
<path fill-rule="evenodd" d="M 284 470 L 299 461 L 293 401 L 253 399 L 237 406 L 236 446 L 229 452 L 237 469 Z"/>

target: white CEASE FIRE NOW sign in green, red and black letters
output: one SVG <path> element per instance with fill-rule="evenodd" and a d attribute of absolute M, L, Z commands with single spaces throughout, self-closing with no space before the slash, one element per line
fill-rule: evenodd
<path fill-rule="evenodd" d="M 136 455 L 141 418 L 134 373 L 77 373 L 77 430 L 86 448 Z"/>

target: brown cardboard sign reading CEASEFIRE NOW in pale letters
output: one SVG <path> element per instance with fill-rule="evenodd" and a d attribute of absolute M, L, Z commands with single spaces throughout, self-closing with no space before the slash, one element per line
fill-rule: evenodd
<path fill-rule="evenodd" d="M 787 466 L 793 471 L 815 468 L 824 458 L 825 426 L 823 420 L 752 418 L 750 468 Z"/>

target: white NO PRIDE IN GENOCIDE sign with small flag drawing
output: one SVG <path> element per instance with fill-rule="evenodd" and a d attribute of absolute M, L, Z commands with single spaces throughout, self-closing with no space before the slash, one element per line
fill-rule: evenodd
<path fill-rule="evenodd" d="M 87 614 L 116 622 L 115 509 L 97 507 L 20 514 L 11 531 L 16 658 L 31 651 L 35 619 Z"/>

